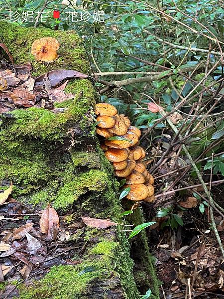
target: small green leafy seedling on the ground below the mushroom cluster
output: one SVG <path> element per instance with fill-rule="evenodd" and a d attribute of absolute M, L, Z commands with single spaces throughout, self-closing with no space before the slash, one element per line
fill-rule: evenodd
<path fill-rule="evenodd" d="M 173 206 L 171 206 L 167 208 L 162 208 L 157 212 L 156 217 L 158 218 L 167 217 L 166 220 L 161 225 L 162 229 L 165 226 L 170 226 L 172 229 L 174 229 L 174 228 L 178 228 L 178 225 L 180 226 L 184 225 L 182 218 L 178 214 L 173 213 L 173 209 L 174 209 Z"/>

